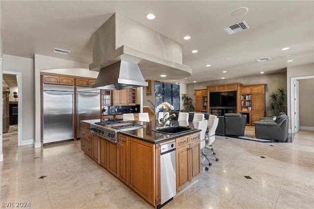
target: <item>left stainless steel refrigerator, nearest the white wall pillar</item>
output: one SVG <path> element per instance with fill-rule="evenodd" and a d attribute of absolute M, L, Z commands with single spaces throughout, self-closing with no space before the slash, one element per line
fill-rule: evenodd
<path fill-rule="evenodd" d="M 43 143 L 73 139 L 74 86 L 43 85 Z"/>

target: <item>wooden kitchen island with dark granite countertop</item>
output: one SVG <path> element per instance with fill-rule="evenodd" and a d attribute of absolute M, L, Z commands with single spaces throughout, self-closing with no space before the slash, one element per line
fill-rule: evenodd
<path fill-rule="evenodd" d="M 90 126 L 97 125 L 95 121 L 100 120 L 81 121 L 81 128 L 84 129 L 82 133 L 85 134 L 81 136 L 81 149 L 156 208 L 161 204 L 162 145 L 169 142 L 176 144 L 176 192 L 199 175 L 199 129 L 169 135 L 154 132 L 152 129 L 158 127 L 155 121 L 128 121 L 145 127 L 118 131 L 117 142 L 113 142 L 90 133 Z"/>

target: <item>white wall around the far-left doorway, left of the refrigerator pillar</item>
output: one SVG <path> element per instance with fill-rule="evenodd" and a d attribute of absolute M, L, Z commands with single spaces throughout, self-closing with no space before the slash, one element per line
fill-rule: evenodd
<path fill-rule="evenodd" d="M 3 54 L 2 70 L 22 73 L 22 130 L 21 139 L 34 139 L 34 73 L 33 59 Z M 1 71 L 2 76 L 2 71 Z M 1 126 L 2 127 L 2 126 Z M 22 143 L 23 144 L 23 143 Z"/>

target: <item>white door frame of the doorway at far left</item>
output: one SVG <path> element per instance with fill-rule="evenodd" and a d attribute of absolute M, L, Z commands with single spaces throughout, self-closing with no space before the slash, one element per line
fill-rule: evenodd
<path fill-rule="evenodd" d="M 18 92 L 19 92 L 19 102 L 18 102 L 18 146 L 22 145 L 22 72 L 14 71 L 2 71 L 2 74 L 12 74 L 18 76 Z"/>

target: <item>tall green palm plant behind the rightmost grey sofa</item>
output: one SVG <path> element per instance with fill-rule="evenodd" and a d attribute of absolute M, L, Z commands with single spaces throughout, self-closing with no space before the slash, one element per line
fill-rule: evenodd
<path fill-rule="evenodd" d="M 269 94 L 268 107 L 266 110 L 270 111 L 273 120 L 276 119 L 280 112 L 287 111 L 287 90 L 284 87 L 278 88 L 275 92 Z"/>

